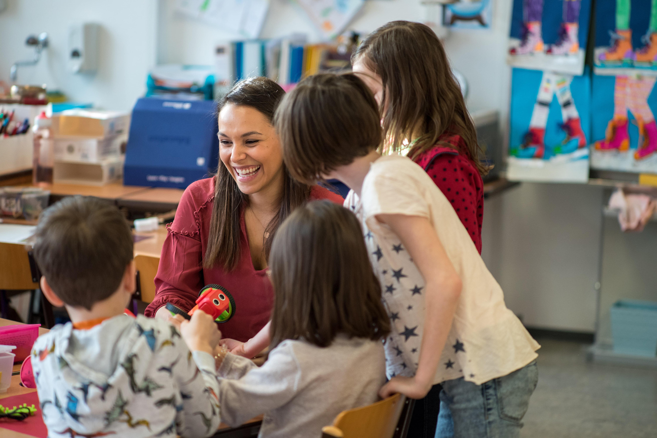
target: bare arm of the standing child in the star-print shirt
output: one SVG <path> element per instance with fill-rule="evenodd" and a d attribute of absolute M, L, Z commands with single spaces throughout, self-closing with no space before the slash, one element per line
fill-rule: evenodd
<path fill-rule="evenodd" d="M 399 237 L 426 283 L 424 331 L 415 377 L 394 377 L 381 388 L 379 395 L 385 398 L 399 392 L 413 399 L 421 399 L 434 384 L 438 362 L 459 302 L 461 278 L 427 218 L 378 214 L 376 219 L 388 224 Z"/>

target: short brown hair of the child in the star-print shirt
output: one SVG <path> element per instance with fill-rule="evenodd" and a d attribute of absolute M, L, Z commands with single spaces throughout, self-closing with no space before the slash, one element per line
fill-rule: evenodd
<path fill-rule="evenodd" d="M 378 106 L 355 75 L 307 77 L 283 98 L 274 116 L 283 159 L 292 176 L 307 184 L 378 148 Z"/>

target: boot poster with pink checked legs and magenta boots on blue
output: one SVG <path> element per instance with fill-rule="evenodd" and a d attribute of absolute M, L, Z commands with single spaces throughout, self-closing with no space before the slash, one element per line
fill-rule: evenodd
<path fill-rule="evenodd" d="M 591 168 L 657 173 L 657 77 L 593 76 Z"/>

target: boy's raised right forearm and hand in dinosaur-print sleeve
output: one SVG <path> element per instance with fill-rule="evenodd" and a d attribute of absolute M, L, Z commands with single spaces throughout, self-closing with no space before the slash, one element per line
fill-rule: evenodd
<path fill-rule="evenodd" d="M 172 342 L 181 344 L 181 355 L 172 367 L 183 402 L 179 415 L 184 428 L 177 432 L 183 437 L 212 436 L 221 422 L 213 357 L 221 333 L 212 317 L 203 311 L 194 312 L 191 321 L 175 321 L 184 339 L 173 340 L 177 335 L 171 334 Z"/>

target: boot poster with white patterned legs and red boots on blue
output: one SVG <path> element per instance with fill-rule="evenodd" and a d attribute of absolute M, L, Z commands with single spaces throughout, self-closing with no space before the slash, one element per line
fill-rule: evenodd
<path fill-rule="evenodd" d="M 514 68 L 511 80 L 507 178 L 587 182 L 590 75 Z"/>

